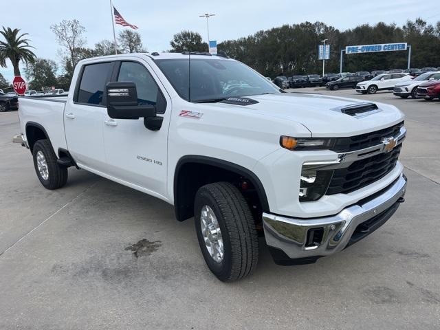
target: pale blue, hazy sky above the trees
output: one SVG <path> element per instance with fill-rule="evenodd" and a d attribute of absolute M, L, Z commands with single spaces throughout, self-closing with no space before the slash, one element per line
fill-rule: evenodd
<path fill-rule="evenodd" d="M 0 26 L 29 33 L 34 53 L 40 58 L 61 62 L 60 46 L 50 25 L 63 19 L 80 21 L 87 30 L 89 47 L 102 39 L 113 39 L 109 0 L 21 0 L 18 8 L 10 3 L 0 0 Z M 137 32 L 148 52 L 169 50 L 170 40 L 181 30 L 199 32 L 206 41 L 206 19 L 199 18 L 205 13 L 215 14 L 210 18 L 210 39 L 218 43 L 304 21 L 322 21 L 339 30 L 380 21 L 404 25 L 408 19 L 417 17 L 432 24 L 440 21 L 440 8 L 428 10 L 419 0 L 113 0 L 113 5 L 126 21 L 139 27 Z M 118 34 L 124 28 L 115 25 L 115 29 Z M 0 73 L 9 81 L 14 78 L 10 62 L 8 68 L 0 67 Z"/>

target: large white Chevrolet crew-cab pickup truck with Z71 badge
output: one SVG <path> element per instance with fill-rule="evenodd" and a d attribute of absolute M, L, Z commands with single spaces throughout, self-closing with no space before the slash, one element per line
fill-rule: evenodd
<path fill-rule="evenodd" d="M 221 281 L 255 269 L 259 236 L 278 264 L 314 263 L 404 201 L 397 108 L 285 93 L 225 54 L 80 61 L 68 96 L 21 98 L 19 116 L 45 188 L 75 166 L 174 205 Z"/>

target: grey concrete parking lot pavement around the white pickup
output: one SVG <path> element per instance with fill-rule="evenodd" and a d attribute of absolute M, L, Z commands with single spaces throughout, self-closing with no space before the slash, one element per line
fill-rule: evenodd
<path fill-rule="evenodd" d="M 192 220 L 85 170 L 45 190 L 0 113 L 0 329 L 439 329 L 440 101 L 289 89 L 391 103 L 406 114 L 406 202 L 374 234 L 283 267 L 215 278 Z"/>

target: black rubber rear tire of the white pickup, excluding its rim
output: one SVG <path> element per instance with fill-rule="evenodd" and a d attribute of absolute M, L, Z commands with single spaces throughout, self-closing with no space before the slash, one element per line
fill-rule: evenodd
<path fill-rule="evenodd" d="M 47 164 L 48 177 L 44 178 L 41 175 L 39 166 L 37 164 L 37 155 L 41 152 Z M 67 167 L 59 166 L 56 162 L 56 155 L 49 140 L 38 140 L 32 149 L 32 156 L 34 158 L 34 168 L 36 176 L 39 178 L 41 184 L 47 189 L 58 189 L 64 186 L 67 182 Z"/>

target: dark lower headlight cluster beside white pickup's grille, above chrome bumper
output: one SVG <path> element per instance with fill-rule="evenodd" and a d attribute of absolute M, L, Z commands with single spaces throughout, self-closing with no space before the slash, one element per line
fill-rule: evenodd
<path fill-rule="evenodd" d="M 316 170 L 303 166 L 300 178 L 300 201 L 316 201 L 320 199 L 329 188 L 333 170 Z"/>

